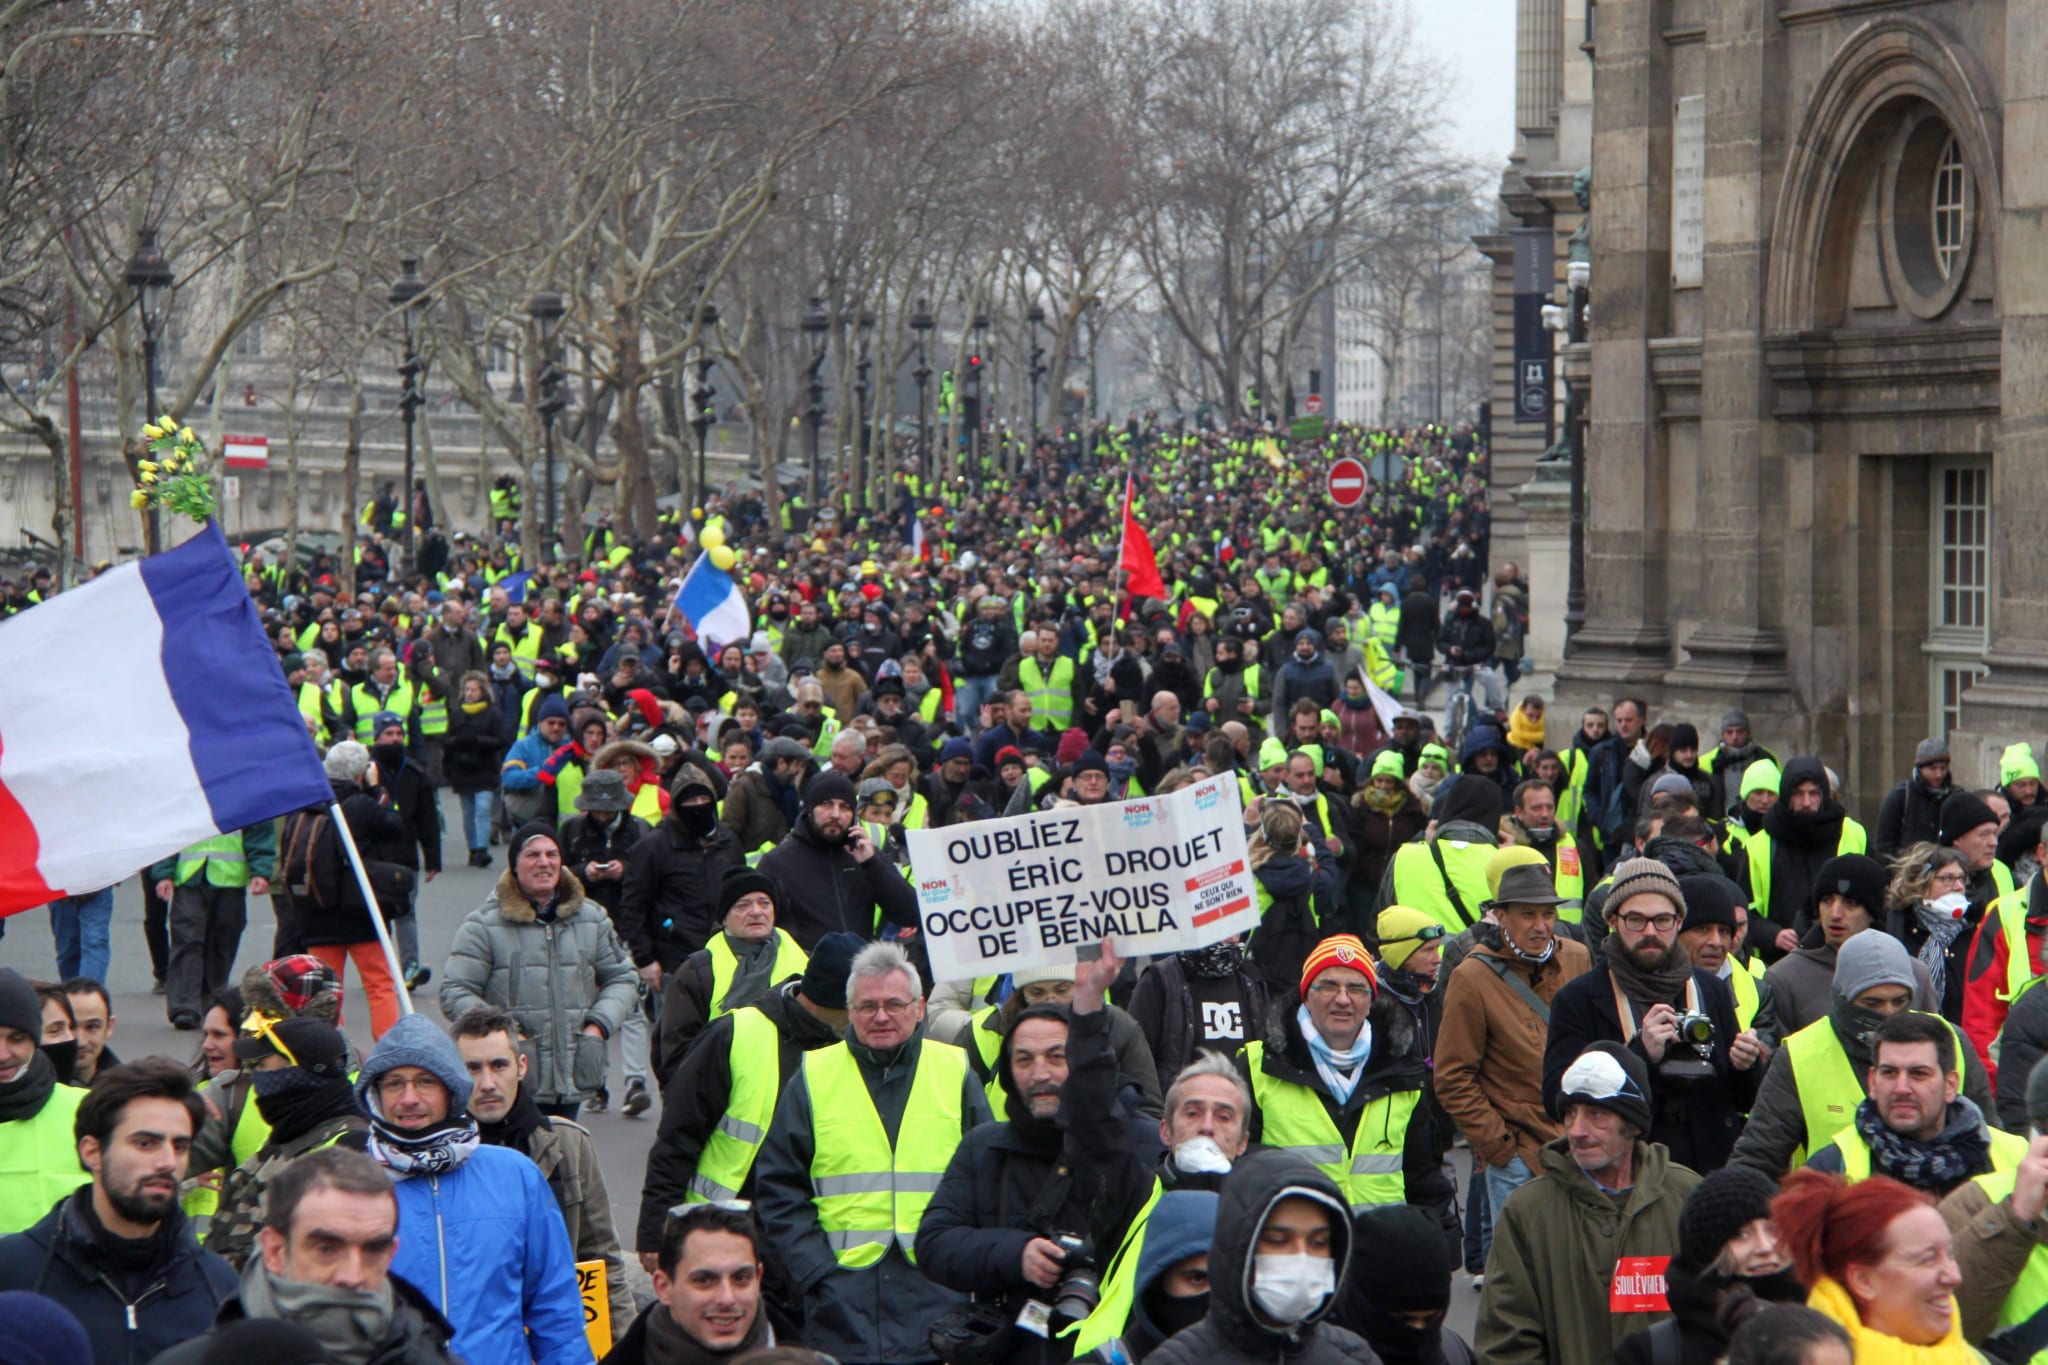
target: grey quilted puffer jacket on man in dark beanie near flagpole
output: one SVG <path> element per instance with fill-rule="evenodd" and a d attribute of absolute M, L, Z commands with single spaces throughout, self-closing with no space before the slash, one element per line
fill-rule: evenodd
<path fill-rule="evenodd" d="M 526 1085 L 532 1085 L 535 1103 L 575 1103 L 602 1085 L 604 1038 L 625 1025 L 637 986 L 633 960 L 618 945 L 612 921 L 584 898 L 573 872 L 561 870 L 555 919 L 541 923 L 539 909 L 506 868 L 498 888 L 455 931 L 442 968 L 440 1013 L 455 1019 L 475 1005 L 510 1009 L 530 1042 Z M 586 1023 L 604 1029 L 604 1038 L 586 1036 Z"/>

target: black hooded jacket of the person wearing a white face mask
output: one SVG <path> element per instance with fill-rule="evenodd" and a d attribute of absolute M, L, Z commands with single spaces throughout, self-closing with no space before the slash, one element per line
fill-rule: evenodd
<path fill-rule="evenodd" d="M 1335 1306 L 1331 1293 L 1321 1308 L 1294 1326 L 1268 1326 L 1251 1302 L 1257 1242 L 1266 1220 L 1282 1199 L 1315 1199 L 1329 1212 L 1329 1254 L 1341 1285 L 1352 1267 L 1352 1216 L 1337 1185 L 1290 1152 L 1257 1148 L 1245 1152 L 1223 1181 L 1217 1201 L 1217 1232 L 1208 1250 L 1208 1314 L 1178 1332 L 1147 1361 L 1153 1365 L 1378 1365 L 1364 1338 L 1323 1322 Z M 1151 1236 L 1147 1236 L 1147 1242 Z M 1135 1314 L 1133 1314 L 1135 1316 Z"/>

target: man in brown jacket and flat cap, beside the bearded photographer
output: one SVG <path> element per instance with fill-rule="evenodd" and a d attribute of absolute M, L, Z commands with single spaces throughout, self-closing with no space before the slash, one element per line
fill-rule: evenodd
<path fill-rule="evenodd" d="M 1540 1171 L 1542 1144 L 1563 1132 L 1542 1103 L 1542 1050 L 1552 997 L 1591 958 L 1583 943 L 1559 937 L 1561 902 L 1546 866 L 1507 868 L 1491 923 L 1473 927 L 1473 952 L 1444 986 L 1436 1097 L 1485 1162 L 1495 1212 Z"/>

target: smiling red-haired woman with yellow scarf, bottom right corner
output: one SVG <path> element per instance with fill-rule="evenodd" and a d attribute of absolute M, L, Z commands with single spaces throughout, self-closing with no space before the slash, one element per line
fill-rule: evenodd
<path fill-rule="evenodd" d="M 1858 1365 L 1972 1365 L 1962 1271 L 1931 1195 L 1882 1175 L 1855 1185 L 1794 1171 L 1772 1199 L 1778 1242 L 1808 1306 L 1849 1330 Z"/>

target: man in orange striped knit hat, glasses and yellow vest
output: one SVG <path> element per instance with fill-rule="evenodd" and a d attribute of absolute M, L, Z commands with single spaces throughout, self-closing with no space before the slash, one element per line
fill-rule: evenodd
<path fill-rule="evenodd" d="M 1253 1140 L 1288 1148 L 1337 1183 L 1352 1212 L 1448 1197 L 1421 1107 L 1427 1068 L 1415 1019 L 1384 995 L 1366 945 L 1335 933 L 1300 970 L 1300 1007 L 1249 1042 L 1237 1068 L 1257 1101 Z"/>

